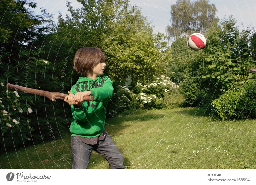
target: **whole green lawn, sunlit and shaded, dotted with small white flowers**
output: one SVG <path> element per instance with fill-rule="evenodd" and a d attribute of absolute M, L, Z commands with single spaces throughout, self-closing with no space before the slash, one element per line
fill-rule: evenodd
<path fill-rule="evenodd" d="M 256 169 L 255 120 L 211 121 L 200 109 L 176 108 L 108 118 L 105 128 L 124 156 L 126 169 Z M 71 134 L 4 152 L 1 169 L 71 169 Z M 88 169 L 109 169 L 92 152 Z"/>

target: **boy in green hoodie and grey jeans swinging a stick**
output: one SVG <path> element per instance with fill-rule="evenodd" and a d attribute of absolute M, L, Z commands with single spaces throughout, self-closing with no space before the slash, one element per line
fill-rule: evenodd
<path fill-rule="evenodd" d="M 102 154 L 110 169 L 125 169 L 124 157 L 104 129 L 106 107 L 113 96 L 113 82 L 104 75 L 105 56 L 99 48 L 80 48 L 74 69 L 81 75 L 64 101 L 71 105 L 72 169 L 87 169 L 92 150 Z M 93 101 L 83 102 L 84 96 Z"/>

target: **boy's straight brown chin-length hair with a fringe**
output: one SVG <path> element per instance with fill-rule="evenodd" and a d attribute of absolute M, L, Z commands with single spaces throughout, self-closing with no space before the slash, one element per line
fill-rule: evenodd
<path fill-rule="evenodd" d="M 80 48 L 76 51 L 74 57 L 74 69 L 80 75 L 87 76 L 92 73 L 94 66 L 105 62 L 105 56 L 100 48 Z"/>

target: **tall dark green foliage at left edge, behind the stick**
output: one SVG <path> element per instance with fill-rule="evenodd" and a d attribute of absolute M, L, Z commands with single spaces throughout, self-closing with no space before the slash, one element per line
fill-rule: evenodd
<path fill-rule="evenodd" d="M 27 5 L 36 7 L 31 1 L 1 1 L 1 151 L 52 139 L 51 130 L 57 137 L 57 130 L 64 128 L 60 105 L 55 104 L 52 111 L 51 101 L 42 96 L 6 91 L 7 83 L 48 91 L 56 91 L 60 84 L 52 75 L 54 70 L 49 70 L 52 63 L 40 57 L 44 52 L 40 41 L 50 31 L 51 16 L 45 11 L 35 16 Z"/>

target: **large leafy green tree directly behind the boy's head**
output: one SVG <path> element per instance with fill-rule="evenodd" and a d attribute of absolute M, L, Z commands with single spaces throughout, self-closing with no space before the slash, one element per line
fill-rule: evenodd
<path fill-rule="evenodd" d="M 72 61 L 76 50 L 82 47 L 98 47 L 103 51 L 105 73 L 115 85 L 124 85 L 125 79 L 131 76 L 130 87 L 136 86 L 137 80 L 147 82 L 163 71 L 161 51 L 167 42 L 159 39 L 163 34 L 152 33 L 152 26 L 137 7 L 129 5 L 128 0 L 79 2 L 83 6 L 78 9 L 67 3 L 70 16 L 65 19 L 59 16 L 56 31 L 46 37 L 46 42 L 51 44 L 44 47 L 48 59 L 57 61 L 60 69 L 68 56 L 67 69 L 70 70 L 65 73 L 67 77 L 73 76 L 73 83 L 78 74 L 72 71 Z"/>

